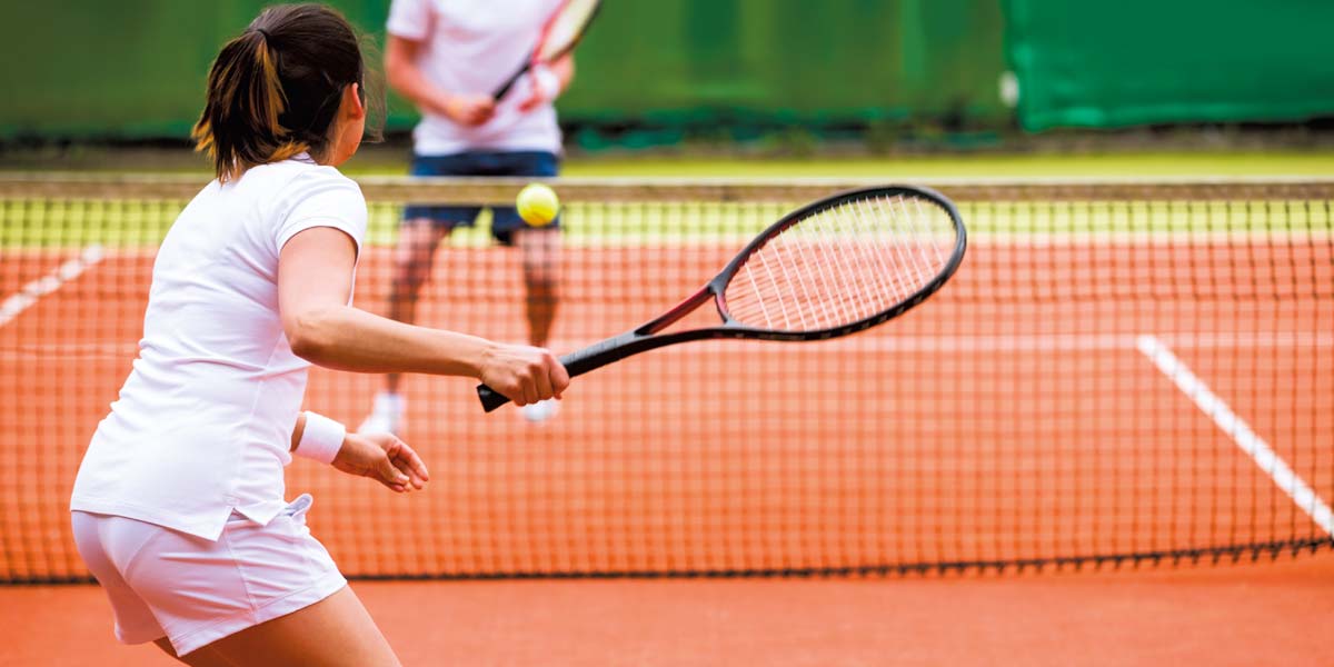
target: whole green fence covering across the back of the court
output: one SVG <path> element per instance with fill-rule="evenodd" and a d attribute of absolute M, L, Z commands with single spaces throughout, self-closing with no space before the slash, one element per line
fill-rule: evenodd
<path fill-rule="evenodd" d="M 217 48 L 267 4 L 0 4 L 0 140 L 187 136 Z M 383 44 L 390 0 L 331 4 Z M 578 136 L 663 141 L 999 128 L 1013 68 L 1033 131 L 1290 121 L 1334 115 L 1330 25 L 1327 0 L 606 0 L 560 111 Z M 391 100 L 390 129 L 415 117 Z"/>

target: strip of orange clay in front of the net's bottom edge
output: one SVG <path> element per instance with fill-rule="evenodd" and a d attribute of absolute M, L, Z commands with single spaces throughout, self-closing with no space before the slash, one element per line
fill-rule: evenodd
<path fill-rule="evenodd" d="M 907 579 L 354 582 L 404 664 L 1323 666 L 1334 558 Z M 0 664 L 179 664 L 93 586 L 0 588 Z"/>

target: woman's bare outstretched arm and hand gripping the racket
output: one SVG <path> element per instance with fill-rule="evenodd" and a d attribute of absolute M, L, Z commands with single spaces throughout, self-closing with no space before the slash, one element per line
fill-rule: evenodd
<path fill-rule="evenodd" d="M 414 327 L 347 305 L 356 245 L 332 227 L 292 236 L 279 259 L 279 312 L 297 356 L 358 372 L 476 378 L 518 406 L 559 398 L 570 376 L 547 350 Z"/>

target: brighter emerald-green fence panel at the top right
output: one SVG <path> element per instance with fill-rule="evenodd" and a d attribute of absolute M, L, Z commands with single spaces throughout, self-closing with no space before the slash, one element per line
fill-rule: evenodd
<path fill-rule="evenodd" d="M 1334 115 L 1329 0 L 1005 4 L 1027 129 Z"/>

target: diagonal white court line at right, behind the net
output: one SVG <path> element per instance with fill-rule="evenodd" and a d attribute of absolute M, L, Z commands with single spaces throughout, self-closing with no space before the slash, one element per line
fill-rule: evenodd
<path fill-rule="evenodd" d="M 1223 399 L 1209 390 L 1203 380 L 1195 376 L 1190 368 L 1177 358 L 1161 340 L 1154 336 L 1139 336 L 1137 347 L 1147 356 L 1159 371 L 1163 372 L 1177 388 L 1190 400 L 1195 402 L 1206 415 L 1209 415 L 1218 428 L 1231 436 L 1238 447 L 1259 466 L 1259 470 L 1269 474 L 1278 488 L 1282 488 L 1289 498 L 1297 503 L 1303 512 L 1310 515 L 1317 526 L 1325 528 L 1334 536 L 1334 512 L 1325 504 L 1315 491 L 1306 484 L 1297 472 L 1283 462 L 1278 454 L 1261 436 L 1251 431 L 1251 427 L 1238 416 Z"/>

